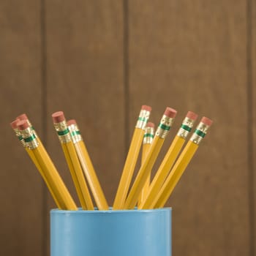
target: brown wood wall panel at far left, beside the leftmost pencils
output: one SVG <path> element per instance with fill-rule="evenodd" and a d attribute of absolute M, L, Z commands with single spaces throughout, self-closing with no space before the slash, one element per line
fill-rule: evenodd
<path fill-rule="evenodd" d="M 41 127 L 40 2 L 0 3 L 1 255 L 43 255 L 42 179 L 10 122 L 27 113 Z"/>

